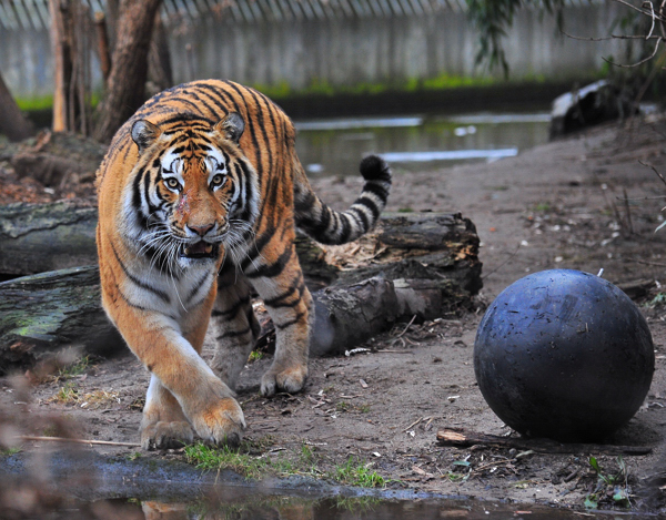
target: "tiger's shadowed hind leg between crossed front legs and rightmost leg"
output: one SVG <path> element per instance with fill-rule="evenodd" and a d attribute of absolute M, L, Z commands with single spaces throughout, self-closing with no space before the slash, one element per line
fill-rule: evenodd
<path fill-rule="evenodd" d="M 212 313 L 211 324 L 218 328 L 218 348 L 211 367 L 232 390 L 235 390 L 239 375 L 261 332 L 252 310 L 251 295 L 252 287 L 245 276 L 232 264 L 225 264 L 218 278 L 218 297 Z"/>

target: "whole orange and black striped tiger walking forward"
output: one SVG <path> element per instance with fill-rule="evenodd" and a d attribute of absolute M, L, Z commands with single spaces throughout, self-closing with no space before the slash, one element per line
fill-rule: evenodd
<path fill-rule="evenodd" d="M 294 249 L 295 228 L 342 244 L 377 221 L 391 186 L 377 156 L 344 213 L 313 193 L 289 118 L 261 93 L 196 81 L 150 99 L 118 131 L 98 172 L 98 251 L 107 314 L 151 373 L 144 448 L 202 439 L 235 443 L 245 420 L 232 388 L 263 299 L 276 332 L 265 396 L 307 376 L 313 322 Z M 212 315 L 222 318 L 212 368 L 200 357 Z"/>

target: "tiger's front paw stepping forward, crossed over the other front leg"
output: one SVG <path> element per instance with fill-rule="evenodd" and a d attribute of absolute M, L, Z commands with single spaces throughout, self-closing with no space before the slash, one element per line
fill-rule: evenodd
<path fill-rule="evenodd" d="M 243 439 L 245 417 L 233 397 L 225 397 L 191 416 L 199 437 L 214 445 L 238 446 Z"/>

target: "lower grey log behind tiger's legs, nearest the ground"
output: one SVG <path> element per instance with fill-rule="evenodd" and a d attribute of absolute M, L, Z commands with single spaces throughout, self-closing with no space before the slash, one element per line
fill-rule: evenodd
<path fill-rule="evenodd" d="M 451 305 L 442 281 L 371 278 L 313 293 L 311 354 L 343 354 L 395 322 L 432 319 Z M 271 326 L 264 343 L 271 343 Z M 109 356 L 124 341 L 101 307 L 97 266 L 26 276 L 0 284 L 0 374 L 47 360 L 63 347 Z"/>

